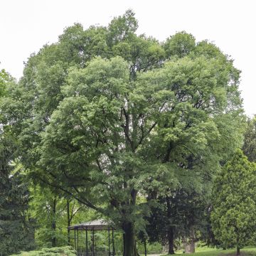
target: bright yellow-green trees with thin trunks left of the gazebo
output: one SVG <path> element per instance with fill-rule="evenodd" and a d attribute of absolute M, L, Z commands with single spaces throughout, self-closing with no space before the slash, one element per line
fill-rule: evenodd
<path fill-rule="evenodd" d="M 30 215 L 36 220 L 36 244 L 38 247 L 71 245 L 70 230 L 73 220 L 85 210 L 73 198 L 63 196 L 62 191 L 54 191 L 45 185 L 31 186 Z M 85 222 L 87 216 L 81 214 Z"/>

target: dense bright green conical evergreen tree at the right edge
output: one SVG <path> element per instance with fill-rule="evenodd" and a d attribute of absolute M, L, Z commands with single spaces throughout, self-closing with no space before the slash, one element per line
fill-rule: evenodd
<path fill-rule="evenodd" d="M 255 241 L 255 165 L 237 151 L 215 179 L 213 232 L 223 247 L 242 248 Z"/>

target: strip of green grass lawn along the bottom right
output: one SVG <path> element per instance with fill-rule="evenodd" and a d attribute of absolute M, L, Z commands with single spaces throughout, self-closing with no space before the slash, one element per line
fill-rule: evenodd
<path fill-rule="evenodd" d="M 241 256 L 256 256 L 256 247 L 245 247 L 240 250 Z M 176 254 L 183 254 L 182 252 L 176 252 Z M 183 254 L 189 256 L 234 256 L 236 255 L 236 250 L 221 250 L 209 247 L 198 247 L 195 253 Z M 166 255 L 165 255 L 166 256 Z"/>

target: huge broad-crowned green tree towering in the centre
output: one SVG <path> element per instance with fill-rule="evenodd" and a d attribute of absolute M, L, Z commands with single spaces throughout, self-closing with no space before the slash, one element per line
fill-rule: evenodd
<path fill-rule="evenodd" d="M 240 143 L 241 119 L 232 60 L 186 33 L 162 46 L 136 29 L 132 11 L 107 28 L 67 28 L 1 105 L 31 176 L 114 221 L 129 256 L 151 203 L 137 196 L 210 176 Z"/>

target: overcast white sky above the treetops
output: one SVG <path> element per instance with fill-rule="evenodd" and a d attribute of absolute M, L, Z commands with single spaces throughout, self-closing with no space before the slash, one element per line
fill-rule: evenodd
<path fill-rule="evenodd" d="M 164 41 L 187 31 L 196 41 L 213 41 L 242 70 L 240 90 L 247 115 L 256 114 L 255 0 L 0 0 L 0 68 L 20 78 L 23 61 L 63 28 L 107 26 L 114 16 L 133 9 L 138 33 Z"/>

